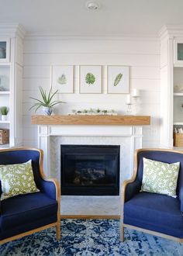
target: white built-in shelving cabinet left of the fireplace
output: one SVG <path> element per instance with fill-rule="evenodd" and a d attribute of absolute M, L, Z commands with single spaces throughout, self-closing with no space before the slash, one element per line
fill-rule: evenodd
<path fill-rule="evenodd" d="M 22 39 L 20 26 L 0 26 L 0 108 L 7 106 L 7 120 L 0 112 L 0 129 L 9 130 L 9 144 L 0 148 L 22 145 Z"/>

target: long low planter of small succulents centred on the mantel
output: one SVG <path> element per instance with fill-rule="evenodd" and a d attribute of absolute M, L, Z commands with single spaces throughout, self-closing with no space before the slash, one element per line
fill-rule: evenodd
<path fill-rule="evenodd" d="M 73 115 L 112 115 L 116 116 L 118 113 L 114 110 L 107 109 L 84 109 L 84 110 L 72 110 Z"/>

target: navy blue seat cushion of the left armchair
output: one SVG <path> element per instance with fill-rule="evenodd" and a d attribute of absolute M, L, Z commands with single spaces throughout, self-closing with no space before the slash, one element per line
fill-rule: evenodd
<path fill-rule="evenodd" d="M 44 220 L 47 224 L 57 222 L 57 201 L 42 192 L 17 195 L 2 201 L 0 222 L 4 231 L 23 227 L 25 232 L 35 223 L 36 227 L 43 226 Z"/>

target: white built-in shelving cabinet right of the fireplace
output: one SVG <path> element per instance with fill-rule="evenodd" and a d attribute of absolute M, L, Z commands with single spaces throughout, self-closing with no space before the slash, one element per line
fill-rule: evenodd
<path fill-rule="evenodd" d="M 161 145 L 174 147 L 183 128 L 183 26 L 164 26 L 161 36 Z M 183 147 L 176 147 L 182 150 Z"/>

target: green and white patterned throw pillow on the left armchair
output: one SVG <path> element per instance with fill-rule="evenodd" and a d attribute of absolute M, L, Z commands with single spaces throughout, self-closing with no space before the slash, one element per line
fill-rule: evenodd
<path fill-rule="evenodd" d="M 0 165 L 1 200 L 15 195 L 38 192 L 33 177 L 31 160 L 22 164 Z"/>

